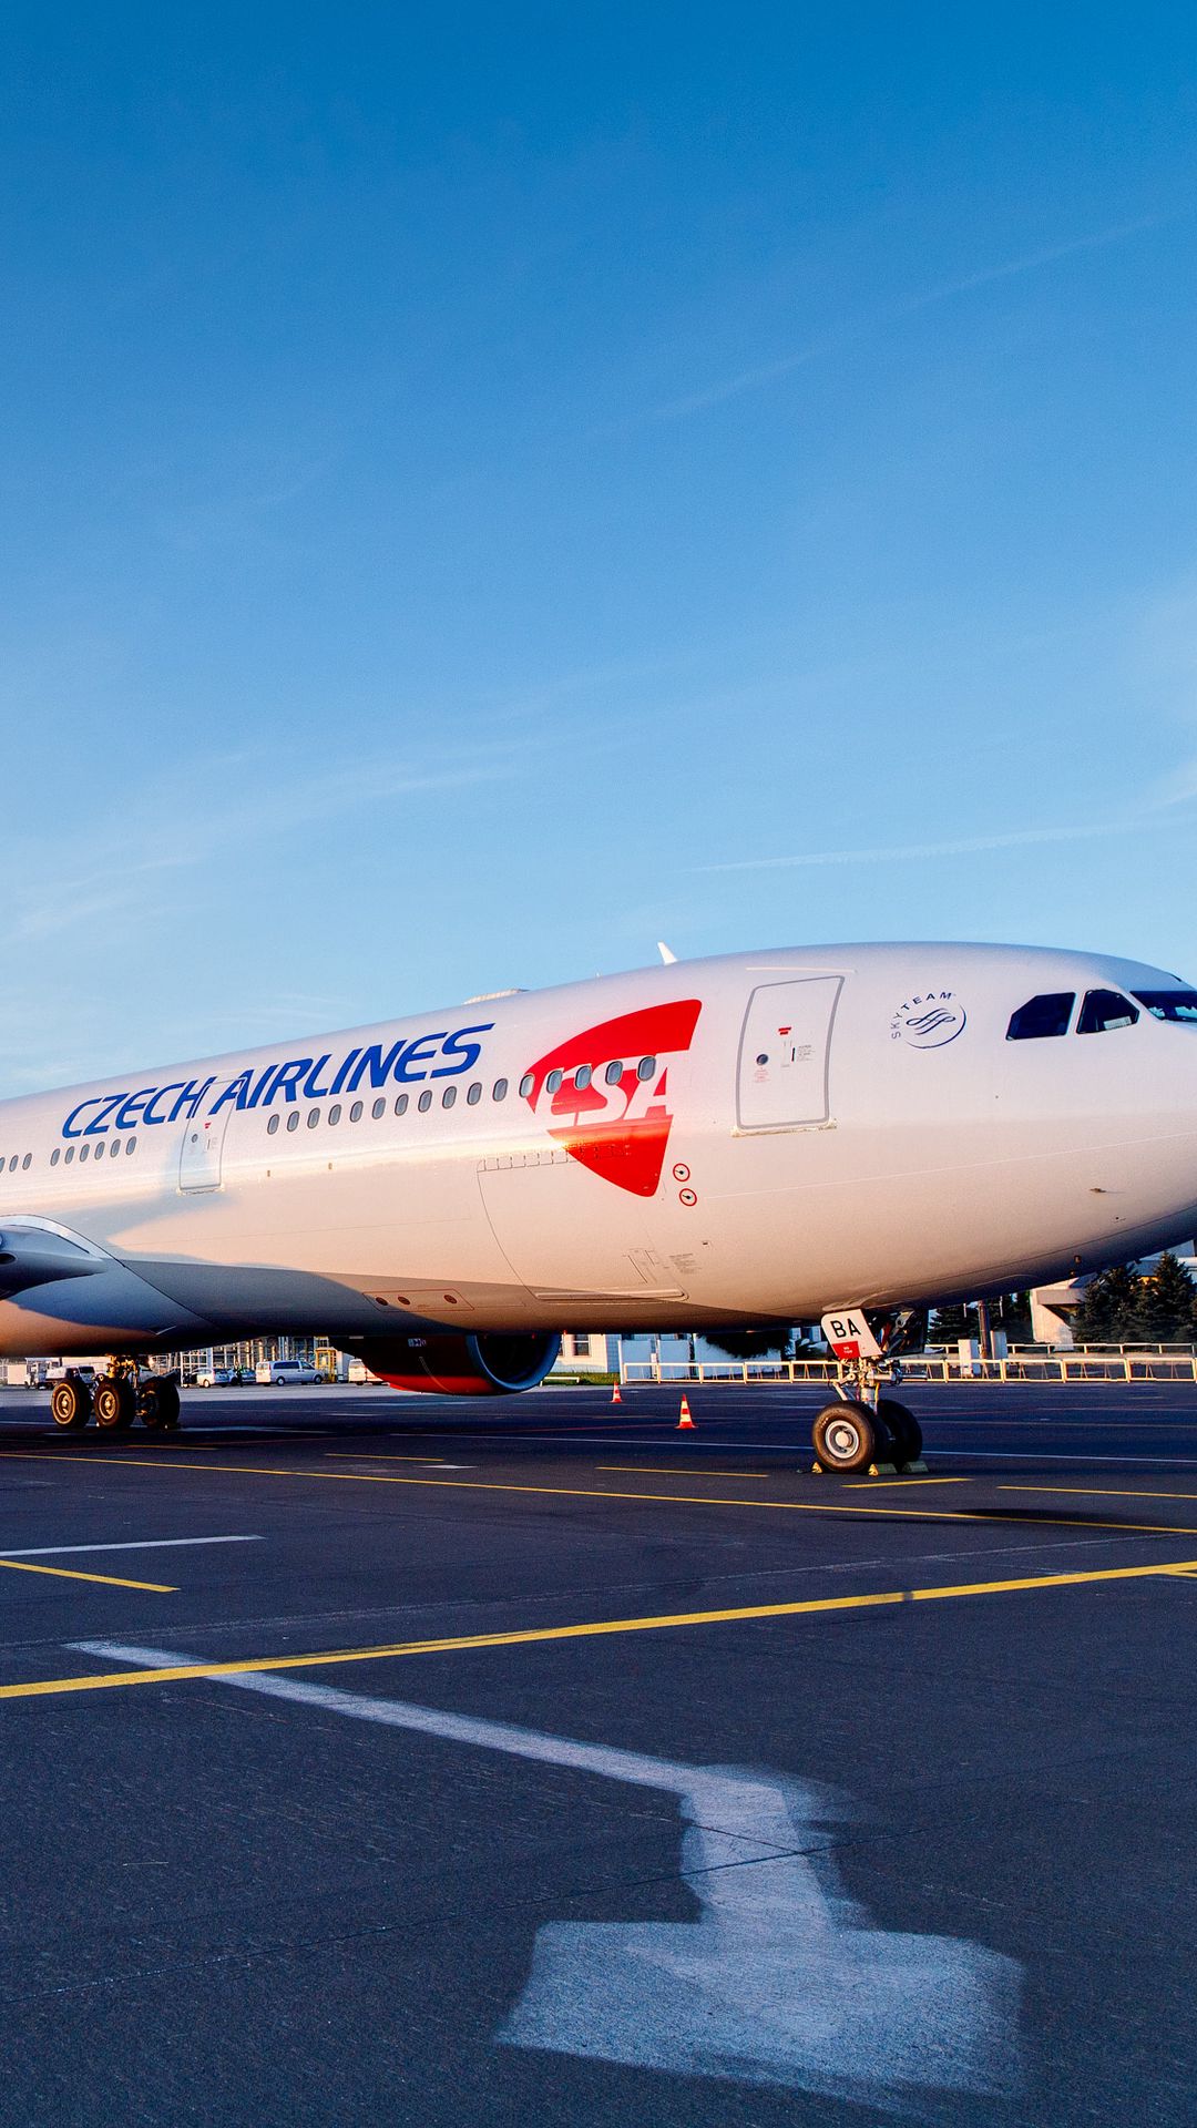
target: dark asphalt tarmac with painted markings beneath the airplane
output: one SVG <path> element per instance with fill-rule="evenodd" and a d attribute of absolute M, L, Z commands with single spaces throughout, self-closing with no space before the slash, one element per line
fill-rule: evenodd
<path fill-rule="evenodd" d="M 1197 2117 L 1197 1390 L 0 1394 L 0 2124 Z"/>

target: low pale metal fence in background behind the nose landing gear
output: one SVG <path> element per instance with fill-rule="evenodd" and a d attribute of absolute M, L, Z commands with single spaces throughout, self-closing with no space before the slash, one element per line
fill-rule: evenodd
<path fill-rule="evenodd" d="M 1016 1349 L 1005 1360 L 916 1351 L 903 1358 L 901 1370 L 905 1381 L 1197 1381 L 1197 1353 L 1163 1345 L 1054 1353 Z M 829 1383 L 843 1375 L 837 1360 L 626 1360 L 622 1379 Z"/>

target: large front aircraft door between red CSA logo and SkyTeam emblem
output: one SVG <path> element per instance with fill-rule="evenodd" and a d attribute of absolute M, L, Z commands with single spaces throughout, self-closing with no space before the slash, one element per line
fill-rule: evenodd
<path fill-rule="evenodd" d="M 752 992 L 739 1036 L 741 1130 L 829 1121 L 831 1026 L 841 990 L 841 975 L 805 975 Z"/>

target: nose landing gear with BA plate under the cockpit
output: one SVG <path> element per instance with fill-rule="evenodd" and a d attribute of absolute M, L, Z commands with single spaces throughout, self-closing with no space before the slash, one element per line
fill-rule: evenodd
<path fill-rule="evenodd" d="M 895 1396 L 882 1390 L 901 1381 L 899 1353 L 918 1315 L 867 1315 L 841 1309 L 822 1317 L 822 1334 L 841 1366 L 835 1383 L 839 1402 L 826 1404 L 811 1426 L 818 1470 L 871 1470 L 892 1464 L 912 1470 L 922 1458 L 922 1428 Z"/>

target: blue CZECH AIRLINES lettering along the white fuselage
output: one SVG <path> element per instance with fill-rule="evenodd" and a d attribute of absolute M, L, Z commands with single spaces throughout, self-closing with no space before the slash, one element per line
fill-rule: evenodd
<path fill-rule="evenodd" d="M 270 1109 L 279 1098 L 324 1100 L 332 1094 L 356 1094 L 362 1085 L 417 1085 L 422 1079 L 458 1079 L 473 1070 L 481 1055 L 479 1034 L 490 1034 L 494 1021 L 458 1028 L 449 1034 L 417 1034 L 396 1041 L 390 1049 L 371 1043 L 337 1058 L 288 1058 L 283 1064 L 241 1070 L 234 1079 L 173 1079 L 168 1085 L 138 1085 L 126 1094 L 96 1094 L 81 1100 L 62 1126 L 64 1138 L 98 1138 L 106 1130 L 143 1130 L 153 1124 L 192 1121 L 196 1115 L 219 1115 L 222 1109 Z"/>

